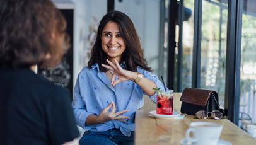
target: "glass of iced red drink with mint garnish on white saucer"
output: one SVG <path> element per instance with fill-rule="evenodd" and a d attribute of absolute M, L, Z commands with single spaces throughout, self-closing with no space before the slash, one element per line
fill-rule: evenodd
<path fill-rule="evenodd" d="M 156 113 L 172 115 L 173 113 L 173 91 L 171 93 L 158 93 L 158 100 L 156 103 Z"/>

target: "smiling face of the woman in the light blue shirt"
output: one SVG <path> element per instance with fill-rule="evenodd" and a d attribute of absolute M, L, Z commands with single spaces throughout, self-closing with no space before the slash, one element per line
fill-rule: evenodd
<path fill-rule="evenodd" d="M 119 30 L 119 25 L 109 21 L 102 31 L 102 49 L 108 55 L 108 59 L 113 62 L 116 59 L 120 61 L 122 53 L 126 49 L 124 39 Z"/>

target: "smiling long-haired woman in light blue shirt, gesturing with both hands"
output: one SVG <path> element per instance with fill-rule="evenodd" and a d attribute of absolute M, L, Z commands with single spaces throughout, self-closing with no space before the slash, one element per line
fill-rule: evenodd
<path fill-rule="evenodd" d="M 131 19 L 108 12 L 74 88 L 73 111 L 86 130 L 80 144 L 134 144 L 135 112 L 143 107 L 143 94 L 156 102 L 156 87 L 164 90 L 146 64 Z"/>

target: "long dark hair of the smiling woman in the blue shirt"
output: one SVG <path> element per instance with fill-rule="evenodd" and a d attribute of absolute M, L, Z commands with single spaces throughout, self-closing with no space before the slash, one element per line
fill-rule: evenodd
<path fill-rule="evenodd" d="M 125 13 L 115 10 L 109 11 L 100 21 L 95 44 L 91 50 L 91 58 L 88 62 L 88 68 L 91 69 L 93 64 L 98 63 L 101 72 L 107 71 L 105 67 L 100 65 L 107 64 L 107 54 L 102 49 L 102 41 L 100 35 L 102 35 L 103 28 L 109 21 L 115 22 L 117 25 L 119 25 L 121 36 L 124 39 L 126 49 L 122 54 L 120 62 L 125 62 L 125 69 L 136 72 L 137 66 L 140 66 L 146 71 L 151 71 L 151 68 L 147 66 L 146 59 L 143 57 L 141 43 L 132 20 L 129 18 L 129 16 L 125 15 Z"/>

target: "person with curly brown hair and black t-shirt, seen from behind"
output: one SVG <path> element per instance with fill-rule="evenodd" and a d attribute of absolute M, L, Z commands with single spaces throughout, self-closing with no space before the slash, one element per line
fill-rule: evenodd
<path fill-rule="evenodd" d="M 0 144 L 79 143 L 68 91 L 34 72 L 59 63 L 65 30 L 50 0 L 0 1 Z"/>

